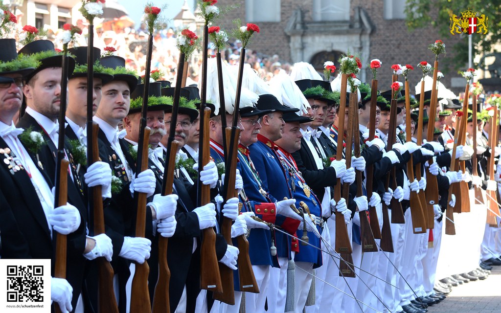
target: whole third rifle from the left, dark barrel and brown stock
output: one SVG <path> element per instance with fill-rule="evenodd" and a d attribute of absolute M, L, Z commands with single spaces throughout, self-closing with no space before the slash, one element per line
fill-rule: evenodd
<path fill-rule="evenodd" d="M 141 120 L 139 124 L 139 142 L 137 148 L 136 177 L 139 173 L 148 169 L 148 143 L 150 138 L 150 128 L 146 126 L 146 115 L 148 113 L 148 95 L 150 88 L 150 68 L 151 53 L 153 49 L 153 35 L 148 36 L 148 53 L 146 56 L 146 69 L 144 73 L 143 105 L 141 109 Z M 136 217 L 136 237 L 145 236 L 146 228 L 146 193 L 134 192 L 134 201 L 137 207 Z M 130 300 L 131 312 L 150 312 L 151 302 L 148 290 L 148 276 L 150 268 L 148 262 L 143 264 L 134 262 L 136 272 L 132 279 L 132 291 Z"/>

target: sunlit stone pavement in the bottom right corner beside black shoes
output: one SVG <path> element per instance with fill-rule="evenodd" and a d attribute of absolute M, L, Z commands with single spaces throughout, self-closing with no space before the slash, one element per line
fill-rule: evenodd
<path fill-rule="evenodd" d="M 445 300 L 428 307 L 428 313 L 501 312 L 501 266 L 493 266 L 484 280 L 452 288 Z"/>

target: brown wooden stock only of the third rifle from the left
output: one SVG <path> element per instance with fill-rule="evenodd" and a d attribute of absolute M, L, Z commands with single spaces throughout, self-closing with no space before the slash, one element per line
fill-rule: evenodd
<path fill-rule="evenodd" d="M 140 138 L 141 147 L 138 147 L 138 155 L 140 163 L 137 164 L 139 169 L 137 173 L 141 173 L 148 169 L 148 142 L 150 138 L 150 128 L 144 128 L 144 136 Z M 146 193 L 135 192 L 134 198 L 137 199 L 137 218 L 136 218 L 136 237 L 144 237 L 146 228 Z M 132 279 L 132 291 L 130 299 L 131 312 L 150 312 L 151 302 L 150 293 L 148 291 L 148 275 L 150 267 L 148 262 L 142 264 L 134 262 L 136 265 L 136 272 Z"/>

